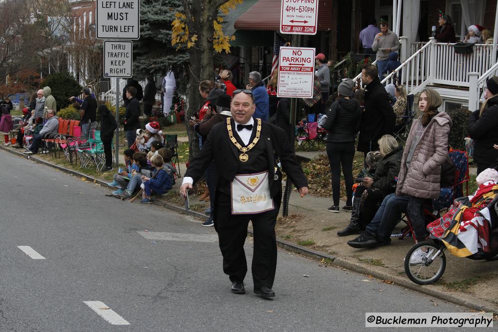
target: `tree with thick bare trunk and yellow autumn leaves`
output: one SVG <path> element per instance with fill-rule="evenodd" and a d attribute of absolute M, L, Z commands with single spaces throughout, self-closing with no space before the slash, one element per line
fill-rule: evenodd
<path fill-rule="evenodd" d="M 228 13 L 243 0 L 182 0 L 183 11 L 176 12 L 171 44 L 177 49 L 186 46 L 190 55 L 187 73 L 189 83 L 187 87 L 186 118 L 190 118 L 200 107 L 199 83 L 203 80 L 213 80 L 215 73 L 214 52 L 230 52 L 229 37 L 223 35 L 221 23 L 223 18 L 219 13 Z M 190 157 L 199 150 L 196 144 L 197 136 L 187 124 L 187 133 L 190 142 Z"/>

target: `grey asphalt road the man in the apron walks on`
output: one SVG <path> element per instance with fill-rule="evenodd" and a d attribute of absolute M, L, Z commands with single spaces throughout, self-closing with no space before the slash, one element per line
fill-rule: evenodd
<path fill-rule="evenodd" d="M 0 165 L 0 331 L 358 331 L 366 312 L 465 311 L 283 250 L 274 300 L 250 272 L 235 295 L 213 227 L 1 150 Z"/>

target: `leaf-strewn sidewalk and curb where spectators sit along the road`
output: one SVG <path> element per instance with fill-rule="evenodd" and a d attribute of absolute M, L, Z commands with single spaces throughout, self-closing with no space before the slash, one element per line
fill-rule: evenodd
<path fill-rule="evenodd" d="M 18 154 L 10 147 L 0 146 L 0 148 Z M 315 152 L 315 154 L 318 153 Z M 311 153 L 310 157 L 313 157 Z M 33 156 L 31 159 L 37 161 L 38 158 Z M 180 167 L 183 175 L 185 165 L 180 165 Z M 74 174 L 73 171 L 69 172 Z M 82 174 L 75 175 L 83 176 Z M 324 179 L 324 181 L 330 181 L 330 179 Z M 190 196 L 191 211 L 184 210 L 182 199 L 176 195 L 181 182 L 182 179 L 178 179 L 170 194 L 156 199 L 156 204 L 194 215 L 201 220 L 207 219 L 202 212 L 209 206 L 209 202 L 199 202 L 195 195 Z M 97 183 L 104 184 L 98 179 Z M 321 259 L 321 265 L 337 265 L 366 274 L 365 282 L 369 282 L 369 278 L 378 278 L 389 284 L 394 283 L 414 289 L 475 310 L 498 313 L 497 261 L 474 261 L 458 258 L 445 252 L 446 271 L 440 281 L 428 286 L 416 285 L 406 277 L 403 267 L 403 259 L 414 243 L 411 237 L 404 240 L 392 238 L 390 245 L 374 249 L 352 248 L 346 242 L 357 235 L 337 236 L 337 231 L 348 225 L 351 213 L 343 211 L 338 214 L 330 213 L 327 211 L 330 205 L 331 199 L 312 195 L 300 198 L 294 190 L 289 202 L 289 216 L 280 217 L 277 221 L 276 233 L 279 246 Z M 341 206 L 343 205 L 344 202 L 341 202 Z M 398 225 L 395 231 L 400 228 L 401 225 Z M 331 280 L 331 286 L 333 284 L 334 281 Z M 421 308 L 421 311 L 430 311 L 428 308 Z"/>

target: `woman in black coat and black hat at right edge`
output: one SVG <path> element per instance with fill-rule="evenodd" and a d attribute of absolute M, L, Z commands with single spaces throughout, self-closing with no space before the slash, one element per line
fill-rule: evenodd
<path fill-rule="evenodd" d="M 486 82 L 486 91 L 481 110 L 469 115 L 467 131 L 474 139 L 474 162 L 477 164 L 477 175 L 498 161 L 498 77 Z"/>

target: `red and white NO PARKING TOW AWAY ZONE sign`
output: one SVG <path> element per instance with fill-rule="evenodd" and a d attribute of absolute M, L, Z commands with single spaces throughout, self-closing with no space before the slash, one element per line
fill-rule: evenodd
<path fill-rule="evenodd" d="M 280 47 L 277 97 L 313 98 L 315 49 Z"/>

